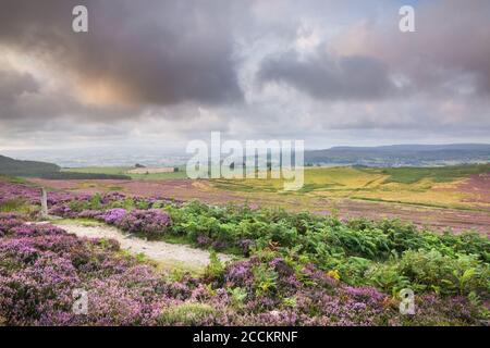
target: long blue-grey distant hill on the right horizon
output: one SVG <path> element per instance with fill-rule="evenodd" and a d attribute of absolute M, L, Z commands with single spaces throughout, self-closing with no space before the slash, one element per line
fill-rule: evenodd
<path fill-rule="evenodd" d="M 305 151 L 305 163 L 309 164 L 428 166 L 478 162 L 490 162 L 490 145 L 392 145 Z"/>

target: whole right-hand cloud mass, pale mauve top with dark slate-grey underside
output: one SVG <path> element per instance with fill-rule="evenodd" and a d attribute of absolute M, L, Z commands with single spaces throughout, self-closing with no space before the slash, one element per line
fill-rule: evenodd
<path fill-rule="evenodd" d="M 399 30 L 397 4 L 385 5 L 382 16 L 353 20 L 313 54 L 289 51 L 269 57 L 259 80 L 283 83 L 322 100 L 412 94 L 488 98 L 488 0 L 420 2 L 415 7 L 416 33 L 408 34 Z"/>

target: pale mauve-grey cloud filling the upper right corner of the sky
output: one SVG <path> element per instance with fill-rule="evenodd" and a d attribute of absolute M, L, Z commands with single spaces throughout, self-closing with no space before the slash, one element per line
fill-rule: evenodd
<path fill-rule="evenodd" d="M 433 98 L 490 96 L 490 1 L 437 0 L 415 10 L 415 33 L 397 30 L 399 16 L 360 22 L 334 39 L 345 54 L 383 61 L 417 92 Z"/>

